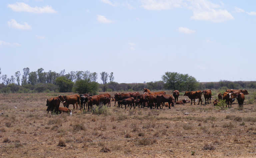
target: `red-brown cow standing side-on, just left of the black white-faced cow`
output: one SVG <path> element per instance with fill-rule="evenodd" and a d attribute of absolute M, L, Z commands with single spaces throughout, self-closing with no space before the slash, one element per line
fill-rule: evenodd
<path fill-rule="evenodd" d="M 64 107 L 69 107 L 70 104 L 73 105 L 73 109 L 75 109 L 75 104 L 76 104 L 76 109 L 77 109 L 77 105 L 80 106 L 80 110 L 81 110 L 81 105 L 80 105 L 80 96 L 77 94 L 74 95 L 69 95 L 69 96 L 62 96 L 59 95 L 60 100 L 63 102 L 63 106 Z"/>

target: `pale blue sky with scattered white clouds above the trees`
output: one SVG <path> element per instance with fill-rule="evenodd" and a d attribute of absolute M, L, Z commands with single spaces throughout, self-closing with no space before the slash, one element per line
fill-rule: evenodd
<path fill-rule="evenodd" d="M 256 81 L 256 1 L 1 0 L 2 74 L 113 72 L 118 83 L 179 72 Z"/>

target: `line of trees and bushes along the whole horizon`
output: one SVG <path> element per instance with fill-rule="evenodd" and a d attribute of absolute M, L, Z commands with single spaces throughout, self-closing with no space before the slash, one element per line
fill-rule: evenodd
<path fill-rule="evenodd" d="M 195 77 L 178 72 L 165 72 L 162 81 L 152 81 L 144 83 L 118 83 L 114 81 L 113 72 L 101 72 L 102 83 L 97 82 L 96 72 L 71 71 L 65 69 L 59 73 L 55 71 L 44 72 L 43 68 L 30 72 L 30 69 L 23 68 L 8 77 L 1 74 L 0 68 L 0 92 L 1 93 L 38 93 L 38 92 L 76 92 L 92 93 L 111 92 L 111 91 L 141 91 L 143 88 L 150 90 L 180 90 L 193 91 L 203 89 L 241 89 L 256 88 L 256 82 L 227 81 L 200 83 Z"/>

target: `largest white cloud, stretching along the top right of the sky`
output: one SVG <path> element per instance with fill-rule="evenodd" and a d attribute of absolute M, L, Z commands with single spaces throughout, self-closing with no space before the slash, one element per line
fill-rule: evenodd
<path fill-rule="evenodd" d="M 208 0 L 141 0 L 142 7 L 147 10 L 169 10 L 172 8 L 187 8 L 192 10 L 193 20 L 223 22 L 234 17 L 218 4 Z M 222 4 L 223 5 L 223 4 Z"/>

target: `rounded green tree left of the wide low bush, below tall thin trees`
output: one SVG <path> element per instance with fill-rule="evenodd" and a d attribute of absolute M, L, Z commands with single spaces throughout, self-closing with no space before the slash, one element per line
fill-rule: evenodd
<path fill-rule="evenodd" d="M 56 84 L 60 92 L 71 92 L 74 83 L 65 76 L 61 76 L 56 78 Z"/>

